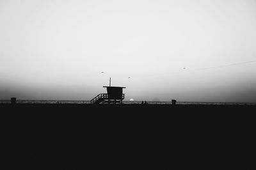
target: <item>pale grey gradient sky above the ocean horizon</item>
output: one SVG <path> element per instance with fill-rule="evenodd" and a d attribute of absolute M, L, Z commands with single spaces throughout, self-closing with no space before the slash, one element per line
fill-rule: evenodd
<path fill-rule="evenodd" d="M 252 0 L 0 0 L 0 99 L 256 102 L 255 61 Z"/>

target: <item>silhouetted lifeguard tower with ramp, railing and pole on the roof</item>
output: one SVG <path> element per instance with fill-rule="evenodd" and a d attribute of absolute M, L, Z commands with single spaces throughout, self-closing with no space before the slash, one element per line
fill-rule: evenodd
<path fill-rule="evenodd" d="M 101 93 L 97 97 L 91 100 L 91 104 L 122 104 L 124 100 L 123 88 L 111 86 L 111 78 L 109 79 L 109 86 L 103 86 L 107 88 L 107 93 Z"/>

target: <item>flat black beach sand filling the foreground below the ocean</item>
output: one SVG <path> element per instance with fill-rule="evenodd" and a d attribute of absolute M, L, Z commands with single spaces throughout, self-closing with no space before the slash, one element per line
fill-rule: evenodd
<path fill-rule="evenodd" d="M 255 105 L 0 109 L 1 169 L 256 169 Z"/>

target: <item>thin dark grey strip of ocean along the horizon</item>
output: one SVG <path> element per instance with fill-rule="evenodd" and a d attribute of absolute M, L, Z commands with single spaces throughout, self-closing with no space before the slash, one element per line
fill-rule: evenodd
<path fill-rule="evenodd" d="M 172 101 L 147 101 L 148 104 L 172 104 Z M 10 104 L 11 100 L 0 100 L 0 104 Z M 90 104 L 90 100 L 16 100 L 17 104 Z M 141 104 L 141 101 L 123 101 L 123 104 Z M 256 105 L 242 102 L 180 102 L 176 104 L 189 105 Z"/>

